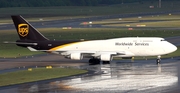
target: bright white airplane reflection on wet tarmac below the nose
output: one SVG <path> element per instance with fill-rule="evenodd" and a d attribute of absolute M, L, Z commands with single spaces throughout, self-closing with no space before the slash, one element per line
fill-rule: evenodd
<path fill-rule="evenodd" d="M 178 82 L 177 69 L 174 66 L 120 63 L 99 67 L 104 74 L 72 79 L 65 84 L 80 89 L 83 93 L 149 93 L 164 91 L 176 86 Z"/>

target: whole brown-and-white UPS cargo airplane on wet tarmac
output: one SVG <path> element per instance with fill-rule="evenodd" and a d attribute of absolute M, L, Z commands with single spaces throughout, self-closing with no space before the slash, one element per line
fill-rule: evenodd
<path fill-rule="evenodd" d="M 60 40 L 47 39 L 22 16 L 11 16 L 20 40 L 15 43 L 31 51 L 43 51 L 65 56 L 73 60 L 90 58 L 89 63 L 109 63 L 113 57 L 157 56 L 177 50 L 177 47 L 159 37 L 126 37 L 106 40 Z"/>

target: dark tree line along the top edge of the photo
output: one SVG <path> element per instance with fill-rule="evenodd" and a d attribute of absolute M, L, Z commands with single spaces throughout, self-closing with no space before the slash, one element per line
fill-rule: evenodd
<path fill-rule="evenodd" d="M 159 0 L 0 0 L 2 7 L 46 7 L 46 6 L 98 6 L 122 3 L 143 3 L 144 1 Z M 161 0 L 179 1 L 179 0 Z"/>

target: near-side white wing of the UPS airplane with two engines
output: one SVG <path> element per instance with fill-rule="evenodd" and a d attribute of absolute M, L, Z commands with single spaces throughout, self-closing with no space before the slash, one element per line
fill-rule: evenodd
<path fill-rule="evenodd" d="M 79 51 L 79 50 L 67 50 L 67 51 L 51 51 L 51 50 L 36 50 L 32 47 L 27 47 L 31 51 L 42 51 L 54 54 L 61 54 L 65 58 L 73 60 L 81 60 L 83 58 L 98 58 L 102 61 L 110 61 L 114 56 L 127 55 L 127 51 Z"/>

